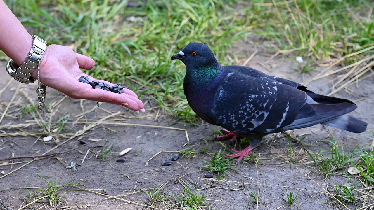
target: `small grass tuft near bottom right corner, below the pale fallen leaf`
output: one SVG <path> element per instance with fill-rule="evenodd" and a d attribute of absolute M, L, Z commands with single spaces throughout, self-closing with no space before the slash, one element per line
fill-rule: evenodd
<path fill-rule="evenodd" d="M 343 182 L 343 184 L 341 184 L 339 186 L 338 185 L 335 185 L 335 186 L 330 185 L 332 188 L 335 188 L 336 194 L 332 195 L 332 197 L 329 198 L 329 199 L 332 199 L 332 200 L 327 201 L 326 203 L 335 203 L 335 202 L 338 202 L 337 200 L 339 200 L 343 204 L 344 203 L 357 204 L 356 200 L 362 200 L 362 198 L 352 194 L 352 191 L 353 191 L 353 189 L 355 189 L 356 185 L 357 185 L 357 183 L 355 184 L 355 186 L 353 186 L 351 188 L 347 185 L 344 185 L 344 182 Z M 335 200 L 335 198 L 337 200 Z"/>

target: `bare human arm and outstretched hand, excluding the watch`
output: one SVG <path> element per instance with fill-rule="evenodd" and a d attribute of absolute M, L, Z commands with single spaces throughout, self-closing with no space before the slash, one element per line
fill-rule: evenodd
<path fill-rule="evenodd" d="M 21 65 L 30 52 L 33 38 L 3 0 L 0 0 L 0 33 L 0 49 L 17 65 Z M 129 89 L 123 89 L 124 93 L 118 94 L 102 89 L 92 89 L 89 84 L 79 82 L 80 76 L 86 76 L 79 68 L 89 70 L 94 65 L 93 59 L 75 53 L 66 46 L 50 45 L 47 46 L 40 63 L 40 82 L 71 98 L 110 102 L 125 106 L 135 112 L 144 112 L 143 103 Z M 31 76 L 37 78 L 37 70 Z M 89 81 L 93 79 L 89 77 Z"/>

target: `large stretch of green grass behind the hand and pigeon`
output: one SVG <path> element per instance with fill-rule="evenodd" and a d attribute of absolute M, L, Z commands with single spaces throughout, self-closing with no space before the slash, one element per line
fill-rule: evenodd
<path fill-rule="evenodd" d="M 364 0 L 275 0 L 276 6 L 272 2 L 156 0 L 126 6 L 120 0 L 6 0 L 19 20 L 49 44 L 66 44 L 95 59 L 95 67 L 86 73 L 131 83 L 143 101 L 154 99 L 190 123 L 198 118 L 183 94 L 186 70 L 182 62 L 170 60 L 190 42 L 208 44 L 223 65 L 238 56 L 232 44 L 248 36 L 270 40 L 277 47 L 270 51 L 293 52 L 291 57 L 303 56 L 307 64 L 374 43 L 374 15 L 367 18 L 370 6 Z M 311 70 L 311 65 L 300 67 L 303 72 Z"/>

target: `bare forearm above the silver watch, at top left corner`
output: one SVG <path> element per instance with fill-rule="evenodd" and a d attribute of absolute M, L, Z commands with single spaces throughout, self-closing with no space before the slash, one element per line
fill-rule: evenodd
<path fill-rule="evenodd" d="M 0 0 L 0 50 L 21 65 L 30 52 L 33 38 L 3 0 Z"/>

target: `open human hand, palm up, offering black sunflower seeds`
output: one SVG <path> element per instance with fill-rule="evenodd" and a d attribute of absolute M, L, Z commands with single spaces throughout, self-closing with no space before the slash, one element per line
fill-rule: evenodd
<path fill-rule="evenodd" d="M 95 61 L 88 56 L 78 54 L 66 46 L 49 45 L 40 64 L 40 82 L 52 87 L 71 98 L 88 99 L 99 102 L 109 102 L 122 105 L 132 111 L 144 112 L 144 105 L 138 96 L 129 89 L 123 93 L 113 93 L 102 89 L 93 89 L 91 85 L 79 82 L 80 76 L 87 76 L 79 68 L 90 70 Z M 37 78 L 37 69 L 31 74 Z M 94 80 L 89 76 L 89 81 Z M 98 80 L 114 85 L 105 80 Z"/>

